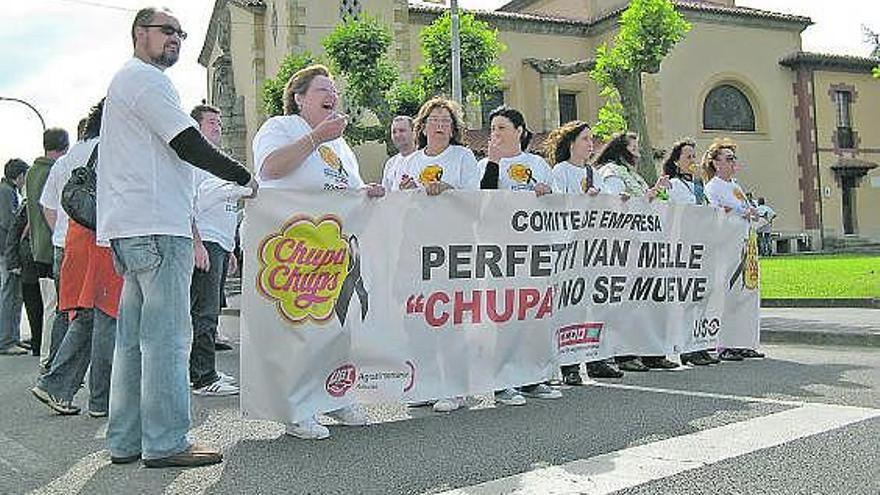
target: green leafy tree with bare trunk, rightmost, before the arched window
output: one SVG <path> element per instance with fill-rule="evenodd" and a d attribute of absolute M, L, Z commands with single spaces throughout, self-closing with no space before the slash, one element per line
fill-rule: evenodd
<path fill-rule="evenodd" d="M 613 46 L 596 50 L 596 67 L 590 76 L 606 97 L 619 98 L 621 117 L 638 133 L 641 158 L 638 171 L 648 181 L 657 178 L 653 149 L 645 119 L 642 73 L 656 74 L 660 63 L 690 30 L 671 0 L 632 0 L 620 16 L 620 31 Z M 604 107 L 615 112 L 614 105 Z M 606 115 L 611 118 L 610 114 Z"/>

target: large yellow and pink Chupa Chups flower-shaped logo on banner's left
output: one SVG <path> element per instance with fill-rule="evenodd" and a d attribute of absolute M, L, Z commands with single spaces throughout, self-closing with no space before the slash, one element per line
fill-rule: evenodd
<path fill-rule="evenodd" d="M 323 323 L 336 313 L 345 324 L 354 294 L 366 318 L 368 294 L 361 277 L 358 240 L 342 233 L 333 215 L 318 219 L 297 216 L 259 248 L 257 289 L 287 321 Z"/>

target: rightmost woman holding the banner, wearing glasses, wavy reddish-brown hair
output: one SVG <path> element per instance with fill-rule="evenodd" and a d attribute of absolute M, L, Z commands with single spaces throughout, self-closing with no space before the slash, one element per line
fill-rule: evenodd
<path fill-rule="evenodd" d="M 709 180 L 705 189 L 706 199 L 710 205 L 728 213 L 750 221 L 757 220 L 757 210 L 733 178 L 738 168 L 736 143 L 727 138 L 716 139 L 703 157 L 703 170 Z M 742 361 L 743 358 L 763 358 L 764 354 L 754 349 L 721 349 L 718 357 L 722 361 Z"/>

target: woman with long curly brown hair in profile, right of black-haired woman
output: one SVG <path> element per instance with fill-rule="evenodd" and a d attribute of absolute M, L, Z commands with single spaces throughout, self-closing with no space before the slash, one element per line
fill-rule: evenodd
<path fill-rule="evenodd" d="M 593 149 L 593 131 L 586 122 L 569 122 L 550 133 L 544 144 L 544 154 L 553 163 L 553 188 L 556 192 L 588 196 L 606 192 L 602 174 L 589 163 Z M 613 359 L 590 361 L 586 366 L 590 378 L 623 376 Z M 561 371 L 562 381 L 566 385 L 583 385 L 580 365 L 565 365 Z"/>

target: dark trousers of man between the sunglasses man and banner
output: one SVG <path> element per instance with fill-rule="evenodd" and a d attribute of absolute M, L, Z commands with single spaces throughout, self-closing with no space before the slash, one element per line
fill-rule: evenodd
<path fill-rule="evenodd" d="M 194 388 L 214 383 L 219 378 L 214 359 L 217 321 L 220 317 L 221 280 L 229 263 L 229 253 L 216 242 L 206 241 L 210 267 L 207 272 L 193 271 L 190 285 L 190 315 L 193 345 L 189 355 L 189 377 Z"/>

